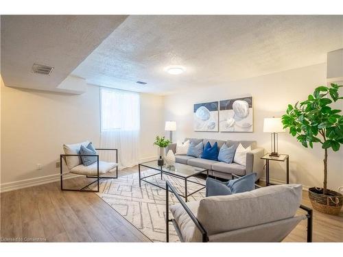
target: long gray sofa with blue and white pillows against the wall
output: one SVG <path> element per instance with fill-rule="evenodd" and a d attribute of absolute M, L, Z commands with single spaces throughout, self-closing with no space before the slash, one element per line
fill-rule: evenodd
<path fill-rule="evenodd" d="M 215 142 L 217 142 L 218 147 L 222 147 L 224 143 L 230 147 L 231 145 L 235 145 L 235 147 L 238 147 L 239 143 L 243 145 L 244 147 L 248 147 L 250 145 L 251 151 L 248 152 L 246 155 L 246 166 L 237 164 L 235 162 L 233 163 L 225 163 L 225 162 L 218 162 L 215 160 L 206 160 L 202 158 L 195 158 L 192 156 L 179 156 L 176 155 L 176 162 L 188 164 L 194 167 L 199 167 L 202 169 L 208 169 L 209 175 L 213 175 L 217 178 L 224 178 L 224 179 L 232 179 L 232 173 L 242 176 L 246 175 L 248 173 L 255 172 L 257 173 L 256 180 L 259 180 L 261 176 L 263 175 L 263 160 L 261 160 L 261 157 L 264 154 L 263 148 L 257 148 L 256 141 L 250 141 L 250 140 L 241 140 L 241 141 L 235 141 L 235 140 L 216 140 L 216 139 L 207 139 L 207 138 L 185 138 L 185 141 L 189 140 L 190 142 L 196 141 L 196 143 L 204 143 L 206 145 L 207 142 L 211 143 L 213 145 Z M 176 143 L 170 144 L 167 147 L 167 151 L 176 153 Z"/>

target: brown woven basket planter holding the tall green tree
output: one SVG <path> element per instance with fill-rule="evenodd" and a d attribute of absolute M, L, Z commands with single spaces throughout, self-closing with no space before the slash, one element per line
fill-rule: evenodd
<path fill-rule="evenodd" d="M 314 210 L 329 215 L 339 215 L 343 205 L 343 195 L 327 189 L 327 195 L 322 194 L 322 188 L 309 188 L 309 199 Z"/>

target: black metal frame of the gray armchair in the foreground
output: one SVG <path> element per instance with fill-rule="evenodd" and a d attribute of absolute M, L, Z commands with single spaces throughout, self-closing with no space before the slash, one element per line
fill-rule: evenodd
<path fill-rule="evenodd" d="M 233 174 L 233 177 L 239 178 L 239 176 L 237 176 L 235 174 Z M 261 188 L 261 186 L 255 184 L 255 188 Z M 178 199 L 181 206 L 187 212 L 187 215 L 189 215 L 189 217 L 191 218 L 193 223 L 196 225 L 196 228 L 198 228 L 198 230 L 202 234 L 202 242 L 203 243 L 209 242 L 209 236 L 208 236 L 206 230 L 204 229 L 204 227 L 202 226 L 202 224 L 200 223 L 200 221 L 198 221 L 196 216 L 193 215 L 193 212 L 191 212 L 191 210 L 188 208 L 185 201 L 183 201 L 183 199 L 178 195 L 178 192 L 176 192 L 176 189 L 174 188 L 174 186 L 172 186 L 169 181 L 166 181 L 165 182 L 165 201 L 166 201 L 166 204 L 165 204 L 165 223 L 166 223 L 165 224 L 166 225 L 165 226 L 165 233 L 166 233 L 167 243 L 169 242 L 169 222 L 173 223 L 174 228 L 176 230 L 176 234 L 178 234 L 180 241 L 185 242 L 185 239 L 183 238 L 181 231 L 180 231 L 180 228 L 178 226 L 178 223 L 175 221 L 175 219 L 169 219 L 169 192 L 174 193 L 176 199 Z M 307 206 L 303 206 L 303 205 L 300 205 L 299 208 L 303 209 L 307 212 L 307 214 L 306 214 L 306 217 L 307 217 L 307 243 L 311 243 L 312 242 L 312 226 L 313 226 L 313 210 L 311 208 L 309 208 Z"/>

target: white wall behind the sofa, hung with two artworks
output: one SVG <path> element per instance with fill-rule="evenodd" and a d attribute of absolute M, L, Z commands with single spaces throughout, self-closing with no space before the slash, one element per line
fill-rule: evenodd
<path fill-rule="evenodd" d="M 165 97 L 165 118 L 177 122 L 176 140 L 185 137 L 217 138 L 232 140 L 257 140 L 257 145 L 270 151 L 270 134 L 263 133 L 263 118 L 281 117 L 288 103 L 307 99 L 316 86 L 326 84 L 326 64 L 284 71 L 261 77 L 253 77 L 224 85 L 187 90 Z M 193 132 L 193 103 L 220 101 L 252 96 L 254 108 L 254 132 Z M 343 109 L 342 104 L 340 105 Z M 279 134 L 279 152 L 289 154 L 290 182 L 305 186 L 322 185 L 323 151 L 320 145 L 305 149 L 288 133 Z M 339 152 L 329 153 L 329 187 L 335 190 L 343 185 L 343 147 Z M 285 180 L 283 163 L 271 164 L 270 178 Z"/>

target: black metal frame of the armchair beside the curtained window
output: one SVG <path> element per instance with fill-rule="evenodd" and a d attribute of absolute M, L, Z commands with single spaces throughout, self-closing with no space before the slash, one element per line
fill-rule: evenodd
<path fill-rule="evenodd" d="M 96 148 L 95 150 L 97 151 L 115 151 L 115 162 L 118 163 L 118 149 L 114 149 L 114 148 Z M 94 156 L 97 157 L 97 175 L 85 175 L 86 178 L 96 178 L 95 181 L 87 184 L 86 186 L 80 188 L 80 189 L 71 189 L 71 188 L 63 188 L 63 168 L 62 168 L 62 159 L 64 160 L 64 162 L 67 164 L 67 156 Z M 78 191 L 78 192 L 99 192 L 99 180 L 102 179 L 109 179 L 109 178 L 118 178 L 118 166 L 116 167 L 116 175 L 115 177 L 104 177 L 99 175 L 99 154 L 94 154 L 94 155 L 88 155 L 88 154 L 61 154 L 60 155 L 60 184 L 61 184 L 61 191 Z M 97 190 L 90 190 L 90 189 L 84 189 L 87 188 L 88 186 L 91 186 L 91 184 L 94 184 L 95 182 L 97 182 Z"/>

